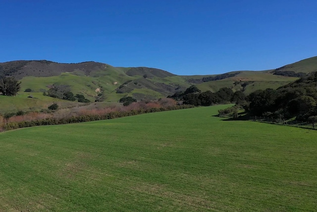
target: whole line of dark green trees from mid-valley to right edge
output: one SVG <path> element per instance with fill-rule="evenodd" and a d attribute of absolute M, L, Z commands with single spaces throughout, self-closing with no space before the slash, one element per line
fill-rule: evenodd
<path fill-rule="evenodd" d="M 274 90 L 256 90 L 249 95 L 242 91 L 233 92 L 228 87 L 217 92 L 201 92 L 195 85 L 184 92 L 168 96 L 183 104 L 210 106 L 214 104 L 236 103 L 248 115 L 264 116 L 275 119 L 296 118 L 299 121 L 317 123 L 317 72 L 281 86 Z"/>

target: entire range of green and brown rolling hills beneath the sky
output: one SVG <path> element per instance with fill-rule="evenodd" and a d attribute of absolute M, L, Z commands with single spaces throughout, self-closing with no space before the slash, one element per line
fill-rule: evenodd
<path fill-rule="evenodd" d="M 30 94 L 36 95 L 38 98 L 36 101 L 43 101 L 43 104 L 37 104 L 43 106 L 52 100 L 42 98 L 41 94 L 56 85 L 69 85 L 71 92 L 83 94 L 92 102 L 96 99 L 104 102 L 118 102 L 120 98 L 126 96 L 137 100 L 158 99 L 184 91 L 193 84 L 197 84 L 202 91 L 215 92 L 221 87 L 229 87 L 234 91 L 242 90 L 245 94 L 249 94 L 257 89 L 278 88 L 298 79 L 298 76 L 309 74 L 312 71 L 317 71 L 317 57 L 276 70 L 232 71 L 223 74 L 193 76 L 175 75 L 146 67 L 112 67 L 96 62 L 58 64 L 51 61 L 12 61 L 0 63 L 0 76 L 12 75 L 20 79 L 22 82 L 20 94 L 25 89 L 31 89 Z M 1 98 L 3 101 L 6 101 L 5 99 Z M 24 100 L 18 98 L 11 102 L 22 106 Z M 54 99 L 53 101 L 59 100 Z M 6 108 L 7 105 L 10 104 L 0 102 L 2 110 L 12 110 L 12 108 Z M 30 108 L 38 107 L 29 104 L 21 107 L 23 110 L 30 110 Z"/>

